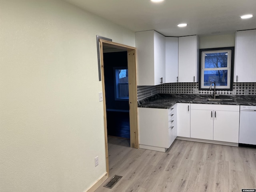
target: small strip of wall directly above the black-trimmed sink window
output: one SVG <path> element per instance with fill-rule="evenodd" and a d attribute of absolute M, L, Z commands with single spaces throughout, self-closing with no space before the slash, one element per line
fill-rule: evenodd
<path fill-rule="evenodd" d="M 212 35 L 200 37 L 200 49 L 234 47 L 236 34 Z"/>

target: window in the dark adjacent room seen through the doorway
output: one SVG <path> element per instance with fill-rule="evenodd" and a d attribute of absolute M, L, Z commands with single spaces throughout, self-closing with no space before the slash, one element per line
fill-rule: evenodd
<path fill-rule="evenodd" d="M 128 100 L 128 69 L 124 67 L 114 68 L 115 100 Z"/>

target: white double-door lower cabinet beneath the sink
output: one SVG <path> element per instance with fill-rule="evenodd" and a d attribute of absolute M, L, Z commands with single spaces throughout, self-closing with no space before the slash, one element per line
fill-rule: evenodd
<path fill-rule="evenodd" d="M 191 104 L 190 137 L 238 143 L 239 106 Z"/>

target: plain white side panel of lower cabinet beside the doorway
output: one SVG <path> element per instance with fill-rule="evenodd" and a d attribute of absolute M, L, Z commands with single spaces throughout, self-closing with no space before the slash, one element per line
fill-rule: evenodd
<path fill-rule="evenodd" d="M 168 109 L 138 108 L 139 144 L 169 148 Z"/>

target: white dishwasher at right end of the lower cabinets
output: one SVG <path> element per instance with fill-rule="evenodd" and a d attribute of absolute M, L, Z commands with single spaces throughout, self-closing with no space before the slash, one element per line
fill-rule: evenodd
<path fill-rule="evenodd" d="M 256 148 L 256 106 L 240 106 L 238 146 Z"/>

